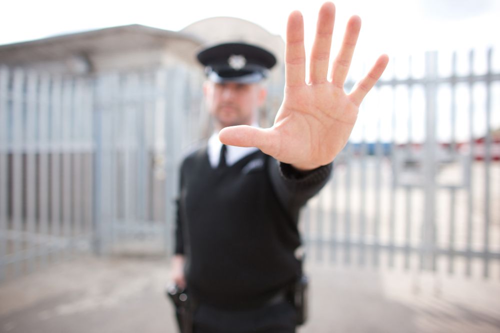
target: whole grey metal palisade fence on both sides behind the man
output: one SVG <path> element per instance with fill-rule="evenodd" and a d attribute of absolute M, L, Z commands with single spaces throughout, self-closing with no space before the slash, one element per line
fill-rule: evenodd
<path fill-rule="evenodd" d="M 482 72 L 464 58 L 395 59 L 302 212 L 308 260 L 498 275 L 500 73 L 492 50 Z M 82 252 L 169 255 L 178 164 L 209 130 L 201 81 L 0 67 L 0 279 Z"/>

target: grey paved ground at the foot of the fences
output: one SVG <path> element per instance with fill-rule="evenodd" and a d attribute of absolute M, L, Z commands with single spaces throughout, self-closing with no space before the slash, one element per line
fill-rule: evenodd
<path fill-rule="evenodd" d="M 500 332 L 500 281 L 310 265 L 299 333 Z M 159 259 L 86 257 L 0 285 L 0 332 L 176 332 Z"/>

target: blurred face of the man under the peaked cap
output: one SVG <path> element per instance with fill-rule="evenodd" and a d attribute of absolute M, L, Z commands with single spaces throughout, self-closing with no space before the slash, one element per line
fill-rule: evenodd
<path fill-rule="evenodd" d="M 266 95 L 265 89 L 258 83 L 210 81 L 205 82 L 203 93 L 219 130 L 227 126 L 251 125 Z"/>

